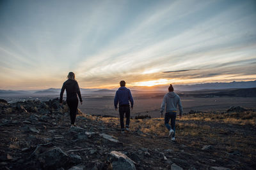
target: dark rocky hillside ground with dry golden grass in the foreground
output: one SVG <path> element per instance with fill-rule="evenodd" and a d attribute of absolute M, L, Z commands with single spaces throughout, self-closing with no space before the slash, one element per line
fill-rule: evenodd
<path fill-rule="evenodd" d="M 163 118 L 77 115 L 58 99 L 0 101 L 0 169 L 255 169 L 255 112 L 193 113 L 177 120 L 170 141 Z M 242 115 L 243 117 L 239 117 Z M 237 116 L 238 115 L 238 116 Z M 246 115 L 246 116 L 244 116 Z M 237 121 L 235 121 L 237 120 Z"/>

